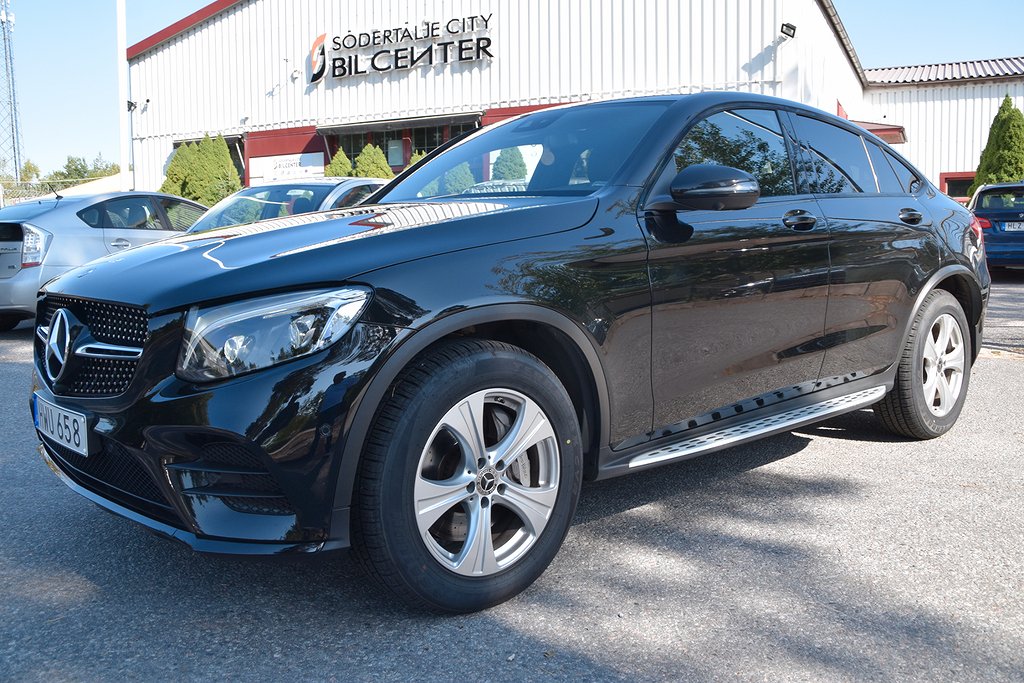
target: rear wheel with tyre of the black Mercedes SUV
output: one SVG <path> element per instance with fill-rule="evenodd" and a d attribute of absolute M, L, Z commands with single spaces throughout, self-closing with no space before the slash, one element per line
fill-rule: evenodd
<path fill-rule="evenodd" d="M 964 407 L 971 358 L 971 336 L 959 302 L 944 290 L 932 292 L 907 336 L 896 383 L 876 403 L 876 415 L 901 436 L 941 436 Z"/>

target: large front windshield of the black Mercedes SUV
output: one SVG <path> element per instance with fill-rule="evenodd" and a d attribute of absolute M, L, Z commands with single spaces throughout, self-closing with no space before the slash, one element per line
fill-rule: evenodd
<path fill-rule="evenodd" d="M 589 195 L 604 186 L 670 102 L 601 102 L 487 128 L 430 160 L 381 201 Z"/>

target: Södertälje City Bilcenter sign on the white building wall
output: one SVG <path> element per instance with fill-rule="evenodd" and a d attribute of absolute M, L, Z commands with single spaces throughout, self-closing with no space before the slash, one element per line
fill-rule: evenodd
<path fill-rule="evenodd" d="M 309 82 L 494 58 L 493 17 L 494 13 L 473 14 L 412 27 L 349 32 L 330 41 L 323 34 L 309 51 Z"/>

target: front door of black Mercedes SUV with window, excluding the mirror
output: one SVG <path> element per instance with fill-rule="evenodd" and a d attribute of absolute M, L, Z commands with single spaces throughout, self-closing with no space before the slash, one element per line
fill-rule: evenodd
<path fill-rule="evenodd" d="M 721 164 L 761 186 L 749 209 L 645 215 L 655 430 L 787 398 L 818 377 L 828 230 L 796 185 L 793 153 L 775 111 L 718 112 L 684 135 L 655 185 L 652 196 L 668 194 L 679 170 Z"/>

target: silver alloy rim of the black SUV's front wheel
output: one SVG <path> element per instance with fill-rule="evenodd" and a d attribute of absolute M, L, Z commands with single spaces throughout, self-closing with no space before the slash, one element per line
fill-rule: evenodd
<path fill-rule="evenodd" d="M 423 543 L 459 574 L 511 566 L 548 525 L 559 473 L 555 432 L 534 399 L 504 388 L 467 396 L 420 456 L 414 498 Z"/>

